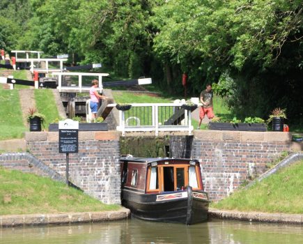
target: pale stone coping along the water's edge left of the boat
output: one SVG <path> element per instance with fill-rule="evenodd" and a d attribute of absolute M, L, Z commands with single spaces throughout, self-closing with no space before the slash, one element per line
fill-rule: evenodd
<path fill-rule="evenodd" d="M 130 210 L 127 208 L 121 208 L 118 211 L 103 212 L 0 215 L 0 228 L 38 224 L 72 224 L 82 222 L 102 222 L 109 220 L 123 220 L 128 218 L 129 216 Z"/>

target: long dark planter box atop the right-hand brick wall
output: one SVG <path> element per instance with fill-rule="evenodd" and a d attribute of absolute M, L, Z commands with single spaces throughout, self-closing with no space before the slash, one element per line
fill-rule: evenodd
<path fill-rule="evenodd" d="M 241 131 L 266 131 L 265 123 L 215 123 L 208 124 L 210 130 L 241 130 Z"/>

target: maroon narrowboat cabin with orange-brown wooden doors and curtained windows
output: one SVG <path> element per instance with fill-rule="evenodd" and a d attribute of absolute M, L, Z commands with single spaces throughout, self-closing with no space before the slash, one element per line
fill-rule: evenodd
<path fill-rule="evenodd" d="M 121 158 L 121 185 L 146 194 L 203 190 L 199 161 L 177 158 Z"/>

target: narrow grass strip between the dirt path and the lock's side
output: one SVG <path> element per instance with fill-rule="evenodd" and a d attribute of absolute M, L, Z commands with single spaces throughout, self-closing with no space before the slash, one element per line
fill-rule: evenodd
<path fill-rule="evenodd" d="M 52 89 L 36 89 L 35 100 L 38 111 L 46 117 L 42 127 L 48 128 L 49 123 L 52 123 L 55 119 L 59 119 L 59 112 Z"/>

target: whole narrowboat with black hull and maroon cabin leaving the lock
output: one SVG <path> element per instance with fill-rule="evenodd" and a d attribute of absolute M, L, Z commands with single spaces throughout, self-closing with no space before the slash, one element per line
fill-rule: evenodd
<path fill-rule="evenodd" d="M 121 202 L 142 220 L 195 224 L 208 219 L 198 160 L 121 157 Z"/>

